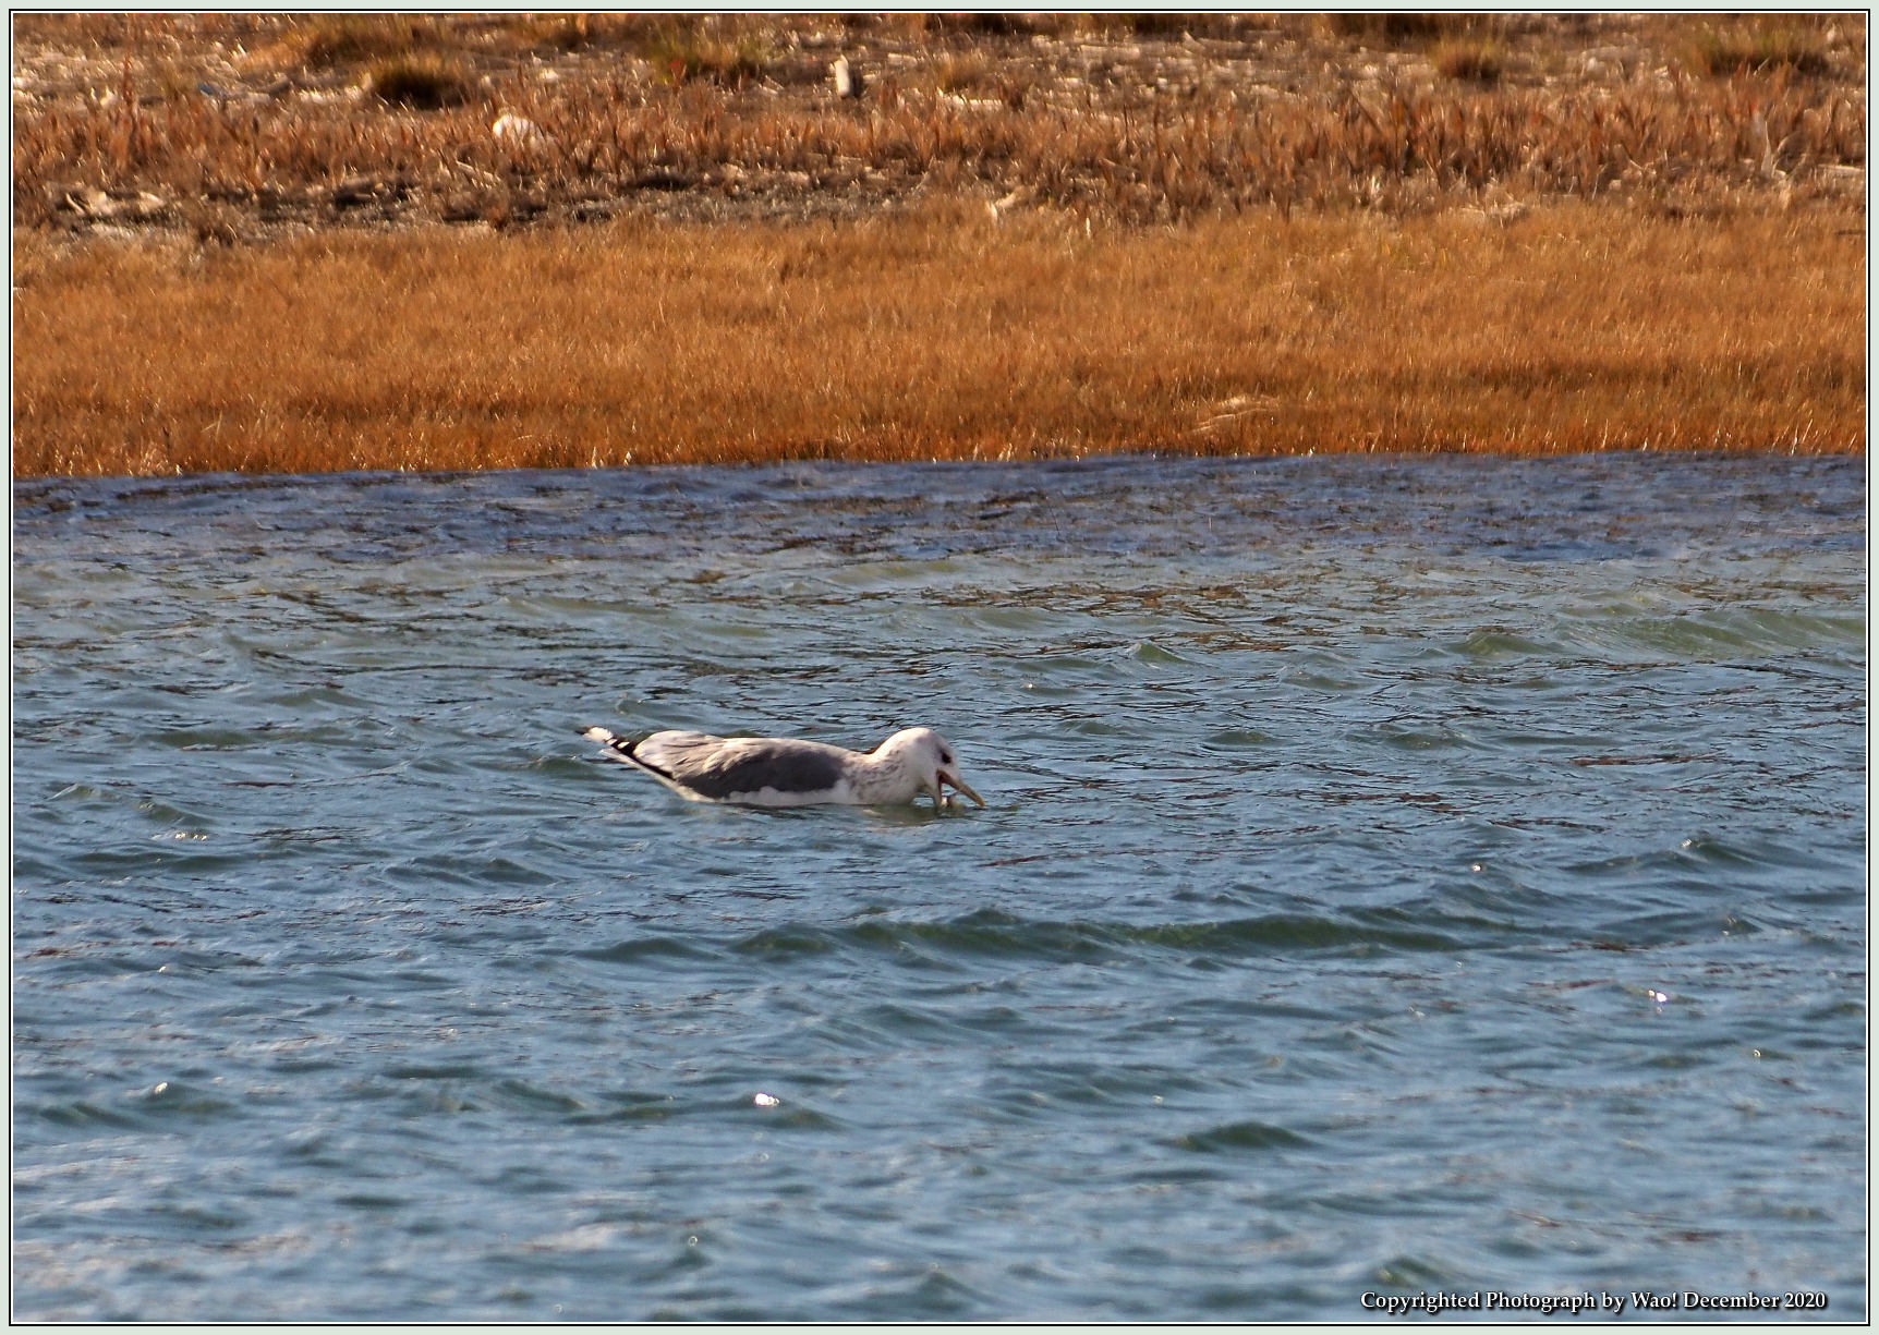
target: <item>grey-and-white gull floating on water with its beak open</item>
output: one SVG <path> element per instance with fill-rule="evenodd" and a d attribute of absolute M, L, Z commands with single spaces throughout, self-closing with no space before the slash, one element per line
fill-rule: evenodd
<path fill-rule="evenodd" d="M 958 775 L 951 744 L 932 729 L 902 729 L 866 755 L 821 742 L 714 738 L 708 732 L 654 732 L 639 742 L 616 738 L 607 729 L 588 729 L 581 736 L 691 802 L 894 806 L 926 792 L 934 809 L 945 809 L 955 806 L 945 785 L 985 806 Z"/>

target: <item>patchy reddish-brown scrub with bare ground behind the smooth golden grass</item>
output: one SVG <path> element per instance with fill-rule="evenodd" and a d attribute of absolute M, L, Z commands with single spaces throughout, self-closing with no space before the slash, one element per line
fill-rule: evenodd
<path fill-rule="evenodd" d="M 24 225 L 1864 192 L 1864 17 L 19 19 Z M 1146 32 L 1139 28 L 1148 28 Z M 834 56 L 862 75 L 838 98 Z M 496 118 L 537 133 L 498 137 Z"/>

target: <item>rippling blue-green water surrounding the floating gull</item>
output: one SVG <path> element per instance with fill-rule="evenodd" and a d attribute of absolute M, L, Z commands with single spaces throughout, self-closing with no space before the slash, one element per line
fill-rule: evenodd
<path fill-rule="evenodd" d="M 1866 1316 L 1862 460 L 13 503 L 17 1320 Z"/>

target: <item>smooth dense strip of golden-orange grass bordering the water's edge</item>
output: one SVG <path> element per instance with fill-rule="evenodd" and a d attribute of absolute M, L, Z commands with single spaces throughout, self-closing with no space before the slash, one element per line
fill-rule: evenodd
<path fill-rule="evenodd" d="M 1864 214 L 15 237 L 15 475 L 1864 451 Z"/>

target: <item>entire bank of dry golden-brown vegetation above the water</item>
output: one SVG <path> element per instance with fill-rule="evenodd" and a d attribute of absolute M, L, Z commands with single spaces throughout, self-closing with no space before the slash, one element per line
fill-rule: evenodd
<path fill-rule="evenodd" d="M 1398 19 L 21 17 L 13 471 L 1864 451 L 1862 15 Z"/>

